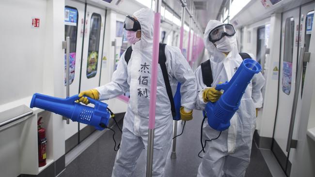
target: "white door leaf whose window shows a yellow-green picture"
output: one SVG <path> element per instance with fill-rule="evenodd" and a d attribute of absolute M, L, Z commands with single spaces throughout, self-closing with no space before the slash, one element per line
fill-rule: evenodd
<path fill-rule="evenodd" d="M 84 42 L 82 53 L 82 66 L 80 74 L 79 90 L 84 91 L 87 89 L 99 86 L 101 59 L 102 59 L 102 46 L 104 39 L 105 29 L 105 14 L 104 9 L 100 9 L 87 4 L 85 13 L 85 29 L 84 29 Z M 87 125 L 79 123 L 79 141 L 85 139 L 95 129 L 92 126 L 85 128 Z"/>

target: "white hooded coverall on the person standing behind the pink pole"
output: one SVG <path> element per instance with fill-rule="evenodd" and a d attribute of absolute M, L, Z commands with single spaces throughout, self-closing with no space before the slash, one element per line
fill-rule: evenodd
<path fill-rule="evenodd" d="M 100 100 L 108 100 L 127 91 L 130 92 L 121 146 L 116 155 L 112 177 L 132 176 L 137 159 L 143 148 L 147 148 L 148 141 L 154 13 L 149 8 L 142 8 L 135 12 L 134 16 L 141 24 L 142 36 L 139 42 L 132 44 L 133 51 L 128 65 L 123 53 L 111 82 L 96 88 L 100 93 Z M 193 109 L 197 95 L 193 71 L 179 48 L 166 45 L 165 55 L 173 95 L 178 82 L 182 83 L 181 105 Z M 171 148 L 173 117 L 159 65 L 158 68 L 153 176 L 163 177 L 166 157 Z"/>

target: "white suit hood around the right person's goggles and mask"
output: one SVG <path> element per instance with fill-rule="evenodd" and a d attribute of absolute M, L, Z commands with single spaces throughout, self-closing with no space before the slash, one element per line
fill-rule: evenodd
<path fill-rule="evenodd" d="M 205 34 L 204 34 L 204 43 L 205 43 L 205 48 L 209 51 L 209 54 L 211 56 L 213 56 L 213 60 L 215 62 L 221 62 L 222 59 L 226 58 L 226 56 L 217 49 L 217 47 L 209 41 L 209 33 L 212 29 L 223 25 L 222 22 L 218 21 L 218 20 L 210 20 L 207 24 L 207 27 L 205 28 Z M 224 36 L 221 40 L 217 41 L 216 44 L 217 46 L 219 46 L 218 44 L 222 44 L 224 40 L 224 43 L 230 43 L 231 44 L 231 57 L 232 58 L 240 58 L 240 56 L 238 55 L 238 50 L 237 50 L 237 43 L 236 43 L 236 34 L 234 36 Z"/>

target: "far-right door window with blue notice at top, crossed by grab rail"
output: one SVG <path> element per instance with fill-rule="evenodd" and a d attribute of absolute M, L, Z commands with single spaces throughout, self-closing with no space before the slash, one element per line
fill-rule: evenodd
<path fill-rule="evenodd" d="M 312 28 L 313 28 L 313 19 L 314 19 L 314 11 L 307 13 L 306 20 L 305 20 L 305 40 L 304 40 L 305 52 L 308 52 L 310 48 L 311 34 L 312 34 Z M 303 94 L 306 65 L 307 65 L 307 62 L 303 62 L 301 96 Z"/>

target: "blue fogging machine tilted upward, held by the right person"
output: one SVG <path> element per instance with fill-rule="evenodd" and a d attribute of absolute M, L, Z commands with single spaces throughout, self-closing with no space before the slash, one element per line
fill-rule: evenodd
<path fill-rule="evenodd" d="M 230 120 L 239 108 L 240 100 L 254 74 L 259 73 L 261 66 L 253 59 L 244 59 L 229 82 L 217 85 L 217 90 L 224 90 L 215 103 L 207 103 L 205 111 L 208 124 L 217 131 L 230 127 Z"/>

